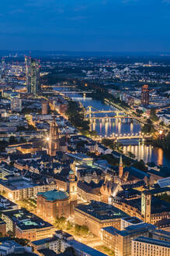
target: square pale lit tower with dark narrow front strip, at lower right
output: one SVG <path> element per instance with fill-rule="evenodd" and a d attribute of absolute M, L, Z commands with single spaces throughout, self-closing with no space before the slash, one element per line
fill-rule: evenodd
<path fill-rule="evenodd" d="M 144 222 L 151 223 L 151 194 L 147 190 L 141 194 L 141 214 Z"/>

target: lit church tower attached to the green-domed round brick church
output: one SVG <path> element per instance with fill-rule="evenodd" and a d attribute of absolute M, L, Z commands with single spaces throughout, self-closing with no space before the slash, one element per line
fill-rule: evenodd
<path fill-rule="evenodd" d="M 75 172 L 72 170 L 69 172 L 68 178 L 68 193 L 70 194 L 71 200 L 71 215 L 75 212 L 75 207 L 77 206 L 77 177 L 75 176 Z"/>

